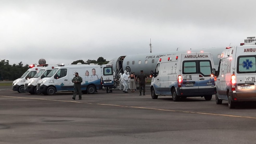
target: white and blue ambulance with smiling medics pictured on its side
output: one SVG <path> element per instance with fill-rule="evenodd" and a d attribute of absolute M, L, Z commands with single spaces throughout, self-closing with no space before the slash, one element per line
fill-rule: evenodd
<path fill-rule="evenodd" d="M 93 94 L 102 87 L 113 87 L 114 77 L 112 64 L 86 65 L 71 64 L 55 67 L 45 78 L 37 83 L 37 91 L 44 95 L 54 95 L 60 91 L 73 91 L 72 79 L 75 73 L 82 77 L 82 93 Z"/>

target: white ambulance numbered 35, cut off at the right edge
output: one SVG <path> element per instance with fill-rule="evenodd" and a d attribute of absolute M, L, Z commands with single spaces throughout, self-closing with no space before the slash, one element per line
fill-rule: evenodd
<path fill-rule="evenodd" d="M 256 39 L 247 37 L 240 46 L 227 47 L 221 54 L 216 71 L 216 104 L 228 101 L 229 108 L 237 102 L 256 101 Z"/>

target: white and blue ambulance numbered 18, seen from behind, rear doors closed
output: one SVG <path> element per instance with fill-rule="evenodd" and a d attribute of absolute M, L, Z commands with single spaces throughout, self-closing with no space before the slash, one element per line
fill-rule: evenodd
<path fill-rule="evenodd" d="M 151 97 L 172 95 L 173 101 L 186 97 L 211 100 L 215 94 L 215 69 L 210 53 L 181 53 L 159 58 L 156 69 L 150 71 Z"/>

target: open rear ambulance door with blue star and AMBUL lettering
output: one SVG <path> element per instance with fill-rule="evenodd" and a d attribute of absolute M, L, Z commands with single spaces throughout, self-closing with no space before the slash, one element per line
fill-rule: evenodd
<path fill-rule="evenodd" d="M 114 87 L 114 76 L 112 64 L 102 65 L 103 76 L 101 82 L 104 87 Z"/>

